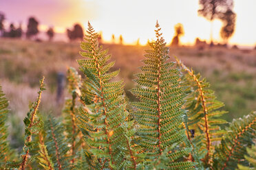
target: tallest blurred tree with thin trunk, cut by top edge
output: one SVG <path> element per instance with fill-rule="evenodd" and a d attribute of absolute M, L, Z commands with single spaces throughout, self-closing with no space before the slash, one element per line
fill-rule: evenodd
<path fill-rule="evenodd" d="M 199 16 L 211 21 L 211 44 L 213 44 L 213 20 L 220 19 L 227 10 L 233 9 L 233 0 L 199 0 Z"/>

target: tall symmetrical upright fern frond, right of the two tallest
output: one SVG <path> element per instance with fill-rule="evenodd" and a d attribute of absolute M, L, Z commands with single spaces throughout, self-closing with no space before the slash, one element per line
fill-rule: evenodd
<path fill-rule="evenodd" d="M 131 103 L 136 108 L 133 115 L 140 125 L 139 143 L 148 162 L 158 159 L 170 148 L 166 162 L 169 169 L 193 169 L 193 162 L 180 160 L 191 153 L 190 147 L 180 149 L 177 145 L 187 141 L 185 130 L 180 130 L 185 116 L 182 110 L 185 95 L 178 70 L 173 68 L 173 62 L 167 62 L 169 49 L 159 31 L 156 23 L 157 40 L 149 42 L 151 49 L 146 50 L 145 66 L 140 67 L 142 73 L 134 80 L 140 87 L 131 90 L 140 99 Z"/>

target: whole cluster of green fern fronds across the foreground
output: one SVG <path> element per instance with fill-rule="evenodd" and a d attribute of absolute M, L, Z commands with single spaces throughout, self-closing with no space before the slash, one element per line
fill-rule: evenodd
<path fill-rule="evenodd" d="M 246 169 L 255 166 L 256 112 L 227 123 L 224 104 L 200 74 L 169 48 L 156 24 L 140 73 L 125 97 L 124 82 L 113 79 L 114 62 L 98 45 L 88 23 L 81 42 L 81 75 L 67 71 L 70 99 L 63 115 L 44 119 L 39 97 L 24 119 L 25 144 L 17 154 L 8 144 L 8 101 L 0 89 L 0 169 Z M 249 149 L 246 149 L 248 147 Z M 253 158 L 251 158 L 253 157 Z M 238 167 L 237 167 L 238 165 Z"/>

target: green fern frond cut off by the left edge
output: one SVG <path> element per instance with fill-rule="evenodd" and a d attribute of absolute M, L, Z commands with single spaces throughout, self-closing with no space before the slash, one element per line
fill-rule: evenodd
<path fill-rule="evenodd" d="M 10 149 L 7 137 L 8 131 L 6 120 L 8 116 L 8 100 L 3 94 L 0 86 L 0 166 L 4 167 L 6 162 L 12 158 L 12 151 Z"/>

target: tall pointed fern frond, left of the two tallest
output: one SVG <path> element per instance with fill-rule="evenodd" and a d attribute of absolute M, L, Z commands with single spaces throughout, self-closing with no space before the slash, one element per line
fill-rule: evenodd
<path fill-rule="evenodd" d="M 98 47 L 98 34 L 88 23 L 85 42 L 81 42 L 80 70 L 86 75 L 85 93 L 92 95 L 91 101 L 82 101 L 80 127 L 89 146 L 86 151 L 91 169 L 136 169 L 136 156 L 131 148 L 129 129 L 125 119 L 128 113 L 123 97 L 123 82 L 110 82 L 119 71 L 109 72 L 114 62 L 109 62 L 107 50 Z M 86 92 L 87 91 L 87 92 Z M 81 97 L 83 99 L 83 97 Z M 87 104 L 91 104 L 87 106 Z"/>

